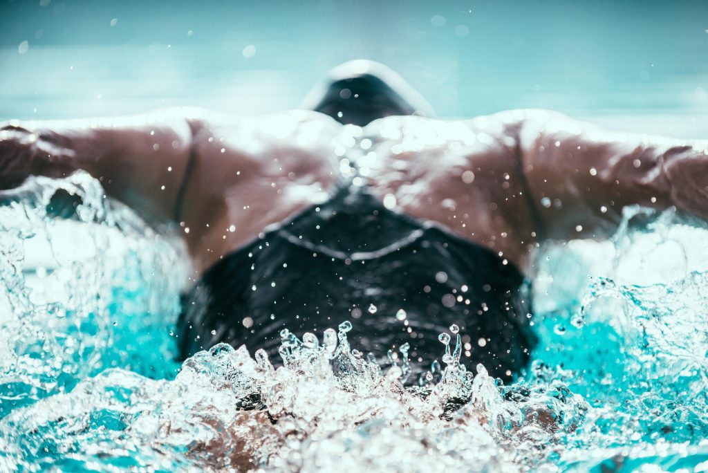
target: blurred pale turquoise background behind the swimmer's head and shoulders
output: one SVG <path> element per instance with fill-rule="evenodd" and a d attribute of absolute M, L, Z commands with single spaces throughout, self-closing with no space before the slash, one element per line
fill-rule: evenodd
<path fill-rule="evenodd" d="M 708 137 L 708 1 L 0 0 L 0 120 L 296 108 L 387 64 L 441 117 L 552 108 Z"/>

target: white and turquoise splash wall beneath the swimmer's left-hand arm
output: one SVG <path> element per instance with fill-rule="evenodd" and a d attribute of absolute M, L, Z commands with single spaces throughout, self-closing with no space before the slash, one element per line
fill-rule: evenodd
<path fill-rule="evenodd" d="M 86 173 L 1 194 L 0 417 L 108 367 L 174 372 L 181 249 Z"/>

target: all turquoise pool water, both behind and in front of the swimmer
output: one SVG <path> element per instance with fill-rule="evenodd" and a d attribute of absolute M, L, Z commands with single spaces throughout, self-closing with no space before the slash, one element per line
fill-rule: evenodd
<path fill-rule="evenodd" d="M 707 20 L 702 0 L 0 0 L 0 120 L 270 112 L 365 57 L 443 117 L 708 137 Z M 56 188 L 79 222 L 46 215 Z M 2 472 L 708 470 L 702 223 L 633 209 L 608 241 L 544 246 L 528 372 L 471 379 L 451 331 L 406 390 L 404 353 L 367 363 L 338 327 L 285 334 L 278 370 L 225 347 L 174 362 L 184 249 L 101 195 L 79 175 L 0 205 Z"/>

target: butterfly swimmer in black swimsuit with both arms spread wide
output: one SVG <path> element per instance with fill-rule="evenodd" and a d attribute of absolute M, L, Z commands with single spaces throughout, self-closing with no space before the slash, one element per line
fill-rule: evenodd
<path fill-rule="evenodd" d="M 177 229 L 194 272 L 181 358 L 343 321 L 362 351 L 469 336 L 467 365 L 510 380 L 535 344 L 527 275 L 547 239 L 611 234 L 622 208 L 708 217 L 708 143 L 607 132 L 546 110 L 437 120 L 404 81 L 355 61 L 310 110 L 149 115 L 0 127 L 0 186 L 84 169 L 154 227 Z M 168 230 L 169 231 L 169 230 Z"/>

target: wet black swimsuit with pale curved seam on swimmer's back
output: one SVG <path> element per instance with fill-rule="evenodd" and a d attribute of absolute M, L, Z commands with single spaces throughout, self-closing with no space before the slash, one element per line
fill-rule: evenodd
<path fill-rule="evenodd" d="M 408 342 L 422 368 L 444 353 L 438 334 L 457 324 L 472 345 L 465 364 L 509 380 L 535 336 L 528 285 L 505 263 L 346 184 L 204 273 L 183 301 L 180 354 L 245 343 L 278 360 L 281 329 L 321 336 L 350 320 L 353 348 L 380 356 Z"/>

